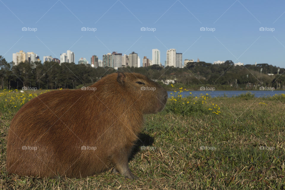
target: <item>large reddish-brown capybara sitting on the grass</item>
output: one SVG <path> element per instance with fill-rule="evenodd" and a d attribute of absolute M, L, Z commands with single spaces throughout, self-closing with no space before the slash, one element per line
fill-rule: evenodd
<path fill-rule="evenodd" d="M 163 110 L 167 91 L 137 73 L 117 72 L 77 90 L 50 91 L 27 102 L 11 121 L 9 174 L 83 178 L 114 166 L 136 178 L 128 158 L 143 115 Z"/>

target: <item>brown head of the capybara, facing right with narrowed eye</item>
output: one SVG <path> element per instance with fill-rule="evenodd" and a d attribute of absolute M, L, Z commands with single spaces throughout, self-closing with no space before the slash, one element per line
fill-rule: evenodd
<path fill-rule="evenodd" d="M 135 99 L 144 114 L 163 110 L 167 101 L 167 91 L 158 83 L 138 73 L 117 72 L 117 82 Z"/>

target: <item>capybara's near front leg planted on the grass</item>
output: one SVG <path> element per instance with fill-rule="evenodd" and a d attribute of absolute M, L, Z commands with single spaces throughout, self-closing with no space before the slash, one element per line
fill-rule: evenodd
<path fill-rule="evenodd" d="M 130 170 L 128 164 L 128 154 L 121 152 L 117 153 L 116 155 L 112 156 L 111 162 L 115 165 L 113 168 L 113 173 L 120 172 L 125 178 L 129 179 L 138 179 Z"/>

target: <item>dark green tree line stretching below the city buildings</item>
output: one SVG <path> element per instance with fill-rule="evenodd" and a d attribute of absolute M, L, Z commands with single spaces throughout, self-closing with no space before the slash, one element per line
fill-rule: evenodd
<path fill-rule="evenodd" d="M 279 69 L 279 72 L 278 72 Z M 184 68 L 122 67 L 120 72 L 137 72 L 152 80 L 175 81 L 185 87 L 197 89 L 212 85 L 216 89 L 257 89 L 259 86 L 285 89 L 284 68 L 268 64 L 234 66 L 230 60 L 224 64 L 189 62 Z M 117 72 L 107 67 L 93 68 L 90 65 L 57 62 L 21 62 L 13 65 L 0 56 L 0 89 L 37 87 L 42 89 L 78 88 L 95 83 L 101 77 Z M 267 75 L 274 74 L 273 76 Z M 279 75 L 278 75 L 279 73 Z"/>

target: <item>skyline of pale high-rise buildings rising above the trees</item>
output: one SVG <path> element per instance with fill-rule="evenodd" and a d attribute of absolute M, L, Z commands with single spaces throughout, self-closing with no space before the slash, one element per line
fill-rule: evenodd
<path fill-rule="evenodd" d="M 152 49 L 152 56 L 156 61 L 153 61 L 152 59 L 147 58 L 146 56 L 143 57 L 143 62 L 140 62 L 140 57 L 138 56 L 137 53 L 132 52 L 129 55 L 122 55 L 122 53 L 118 53 L 113 51 L 112 53 L 107 53 L 102 56 L 102 60 L 98 58 L 98 56 L 93 55 L 91 56 L 91 62 L 90 66 L 91 67 L 113 67 L 114 69 L 118 69 L 119 67 L 125 67 L 125 66 L 130 66 L 129 65 L 129 56 L 132 56 L 134 54 L 135 57 L 135 63 L 132 64 L 134 67 L 145 67 L 145 66 L 151 66 L 155 64 L 154 62 L 157 62 L 157 60 L 160 60 L 160 51 L 158 49 Z M 24 52 L 23 50 L 20 50 L 17 53 L 12 54 L 13 62 L 15 65 L 18 65 L 20 62 L 24 61 L 29 61 L 29 62 L 35 62 L 35 61 L 42 61 L 39 59 L 39 56 L 35 54 L 34 52 Z M 75 54 L 71 50 L 67 50 L 67 53 L 61 53 L 60 59 L 58 58 L 53 58 L 52 56 L 43 56 L 43 61 L 53 61 L 53 62 L 58 62 L 59 64 L 61 63 L 60 61 L 64 60 L 63 62 L 67 63 L 75 63 Z M 72 60 L 72 61 L 69 61 Z M 232 61 L 232 60 L 230 60 Z M 194 59 L 183 59 L 182 53 L 177 53 L 176 49 L 170 49 L 167 50 L 167 60 L 165 60 L 166 66 L 174 66 L 178 68 L 183 68 L 186 66 L 187 63 L 195 62 Z M 200 59 L 197 58 L 196 62 L 200 62 Z M 224 64 L 225 61 L 213 61 L 211 64 Z M 141 64 L 140 64 L 141 63 Z M 89 61 L 87 61 L 86 58 L 79 58 L 78 64 L 85 64 L 88 65 Z M 261 63 L 259 63 L 261 64 Z M 157 64 L 160 66 L 164 66 L 161 63 Z M 234 66 L 244 66 L 245 64 L 238 62 L 234 63 Z M 251 64 L 252 65 L 252 64 Z M 255 62 L 255 65 L 257 65 L 257 62 Z"/>

